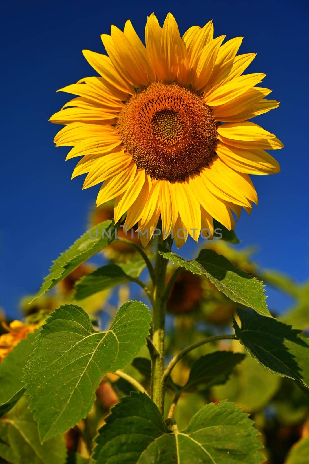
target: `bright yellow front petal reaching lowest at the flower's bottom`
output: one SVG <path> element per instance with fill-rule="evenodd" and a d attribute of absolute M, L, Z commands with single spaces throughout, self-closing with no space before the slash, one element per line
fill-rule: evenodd
<path fill-rule="evenodd" d="M 188 180 L 175 182 L 175 197 L 177 198 L 178 211 L 189 235 L 195 240 L 201 232 L 201 208 L 193 193 Z"/>

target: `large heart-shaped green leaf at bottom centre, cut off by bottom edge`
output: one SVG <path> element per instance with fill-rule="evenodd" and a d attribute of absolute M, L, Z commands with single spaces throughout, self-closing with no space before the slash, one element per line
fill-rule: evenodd
<path fill-rule="evenodd" d="M 171 431 L 151 399 L 131 393 L 114 406 L 96 438 L 98 464 L 259 464 L 252 420 L 233 403 L 202 407 L 182 432 Z"/>

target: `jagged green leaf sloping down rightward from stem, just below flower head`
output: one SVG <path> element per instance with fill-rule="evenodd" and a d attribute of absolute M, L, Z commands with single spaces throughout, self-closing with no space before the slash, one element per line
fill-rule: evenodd
<path fill-rule="evenodd" d="M 159 253 L 172 263 L 206 276 L 224 295 L 236 303 L 254 309 L 263 316 L 272 317 L 265 302 L 263 282 L 240 271 L 222 255 L 213 250 L 201 250 L 198 257 L 186 261 L 176 253 L 165 251 L 161 246 Z"/>

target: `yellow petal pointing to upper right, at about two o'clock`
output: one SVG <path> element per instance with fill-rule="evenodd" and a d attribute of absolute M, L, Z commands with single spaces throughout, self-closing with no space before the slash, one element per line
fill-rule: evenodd
<path fill-rule="evenodd" d="M 204 96 L 205 102 L 211 107 L 223 105 L 224 103 L 239 97 L 254 85 L 262 82 L 262 79 L 265 76 L 266 74 L 260 73 L 245 74 L 244 76 L 235 77 L 235 79 L 227 82 L 227 84 L 220 85 L 216 90 L 208 92 L 208 94 Z"/>

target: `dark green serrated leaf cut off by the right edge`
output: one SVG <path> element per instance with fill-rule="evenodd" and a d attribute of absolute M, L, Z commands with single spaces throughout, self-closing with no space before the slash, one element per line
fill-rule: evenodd
<path fill-rule="evenodd" d="M 309 341 L 299 336 L 301 330 L 252 311 L 237 309 L 237 314 L 241 328 L 234 319 L 235 334 L 250 355 L 273 374 L 309 388 Z"/>

